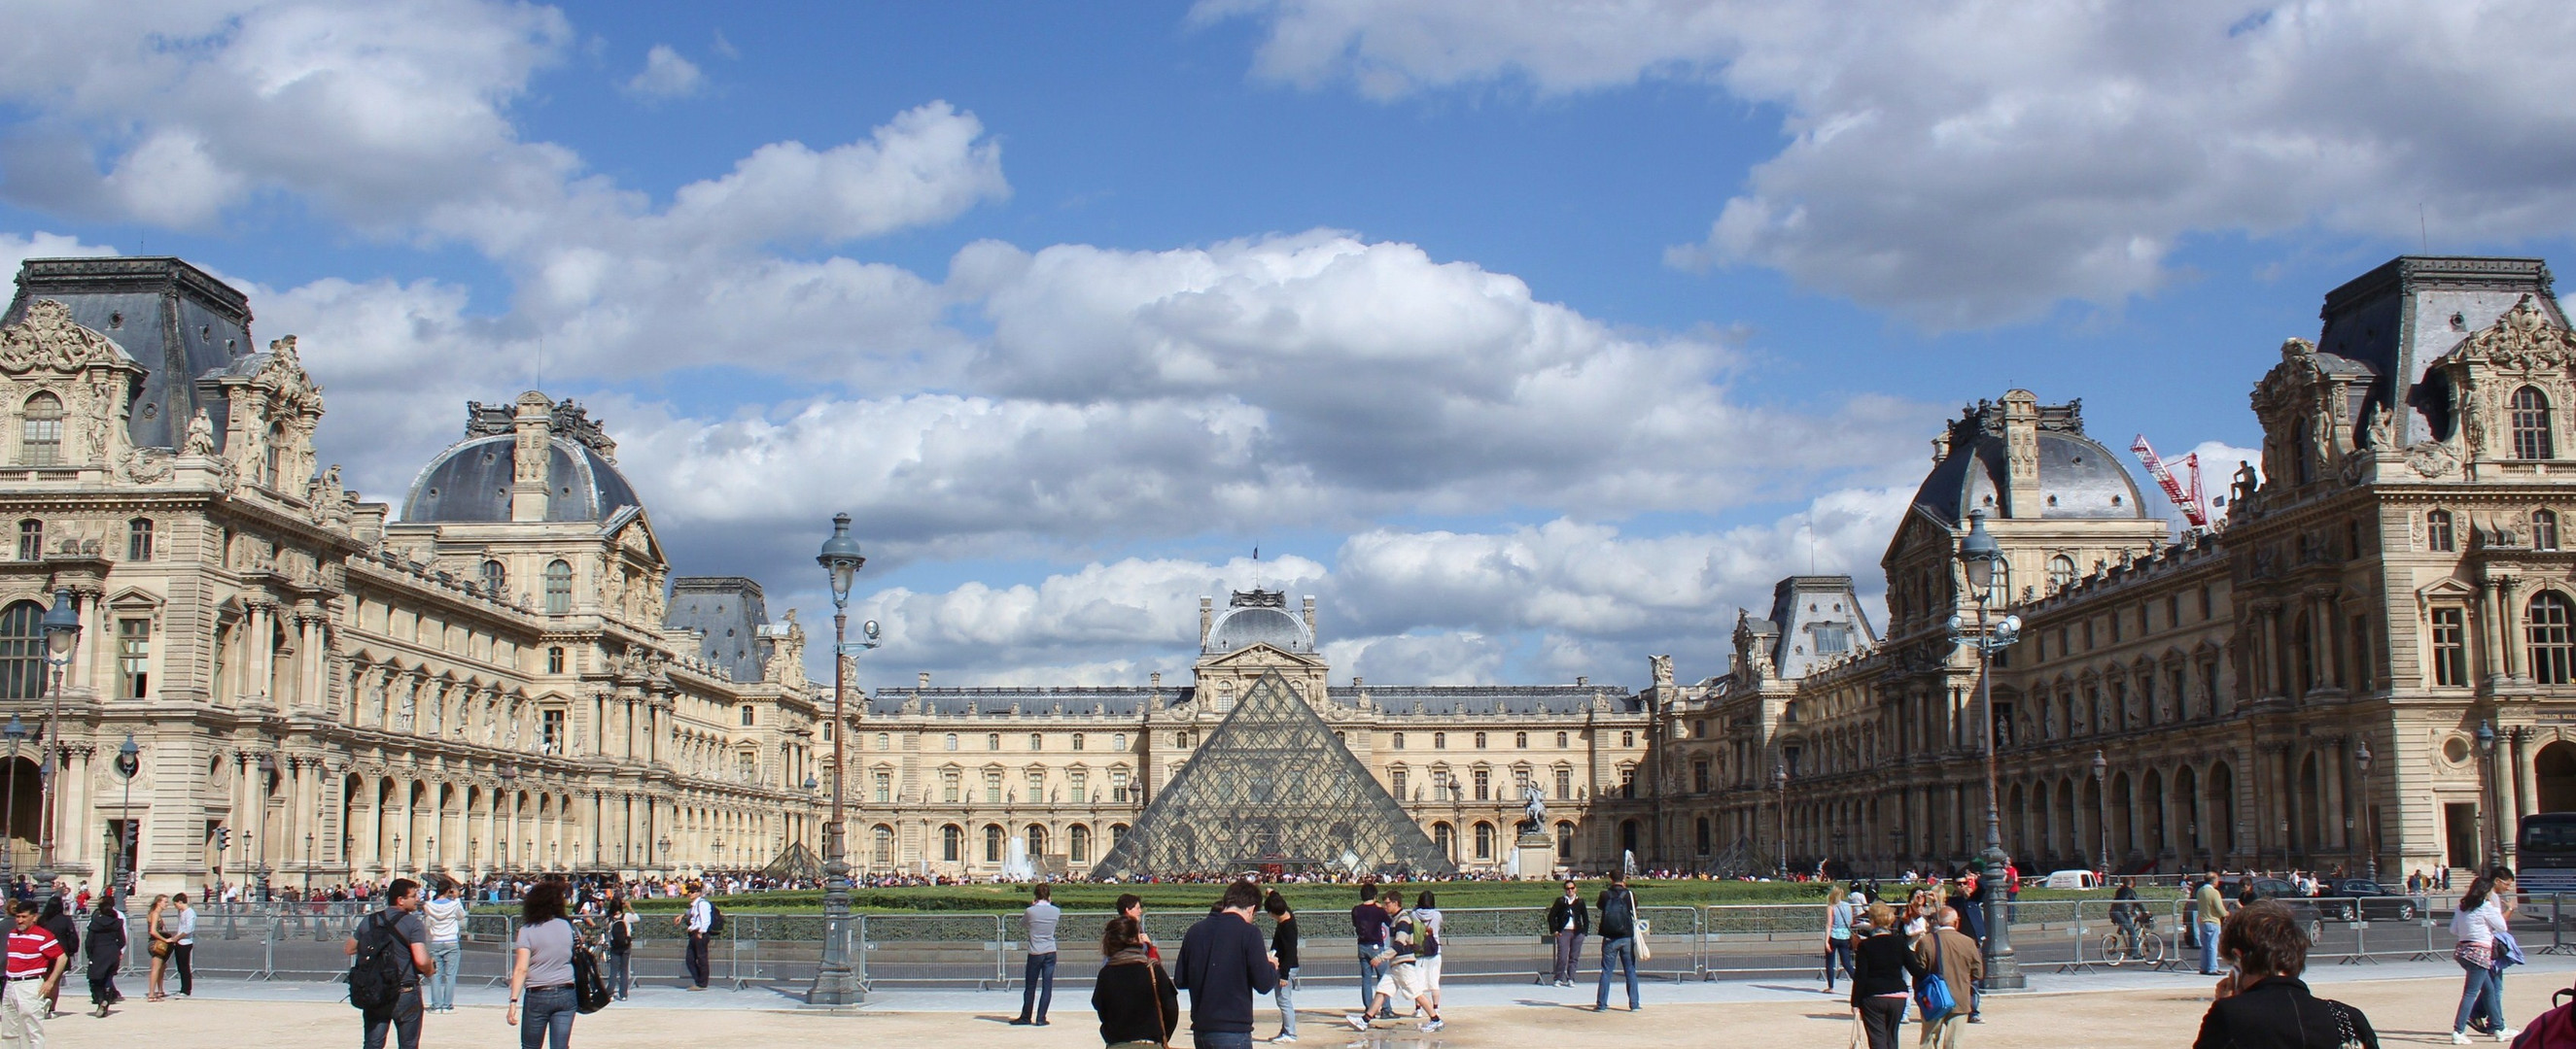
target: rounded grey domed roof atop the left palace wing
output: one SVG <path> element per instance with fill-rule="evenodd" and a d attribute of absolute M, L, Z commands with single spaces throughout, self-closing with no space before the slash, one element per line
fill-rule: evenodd
<path fill-rule="evenodd" d="M 605 455 L 562 440 L 546 440 L 546 519 L 605 522 L 618 509 L 641 507 Z M 448 445 L 412 481 L 402 499 L 404 522 L 507 522 L 510 481 L 518 476 L 518 437 L 489 435 Z"/>

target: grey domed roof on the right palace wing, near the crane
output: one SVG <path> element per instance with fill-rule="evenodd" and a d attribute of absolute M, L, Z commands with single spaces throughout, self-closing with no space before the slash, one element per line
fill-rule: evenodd
<path fill-rule="evenodd" d="M 1950 453 L 1924 476 L 1914 491 L 1914 507 L 1929 509 L 1947 524 L 1965 519 L 1971 509 L 2004 512 L 2007 481 L 2012 476 L 2002 406 L 1996 411 L 1971 409 L 1965 419 L 1950 424 Z M 2102 442 L 2084 437 L 2076 406 L 2038 409 L 2040 491 L 2038 507 L 2020 507 L 2017 517 L 2058 519 L 2143 519 L 2138 481 L 2120 468 L 2120 460 Z"/>

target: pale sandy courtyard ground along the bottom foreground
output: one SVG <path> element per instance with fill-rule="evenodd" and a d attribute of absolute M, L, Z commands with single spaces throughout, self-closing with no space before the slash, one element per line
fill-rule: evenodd
<path fill-rule="evenodd" d="M 2550 992 L 2576 977 L 2576 959 L 2537 959 L 2517 969 L 2506 987 L 2514 1023 L 2537 1016 Z M 2208 982 L 2184 974 L 2035 974 L 2030 995 L 1989 1003 L 1989 1023 L 1971 1028 L 1968 1044 L 1989 1046 L 2184 1046 L 2208 1008 Z M 2329 998 L 2370 1013 L 2383 1044 L 2445 1044 L 2458 969 L 2447 962 L 2329 967 L 2311 972 Z M 332 1000 L 335 987 L 304 982 L 204 982 L 196 1000 L 129 1003 L 98 1021 L 64 1016 L 49 1026 L 54 1046 L 191 1046 L 191 1049 L 348 1049 L 358 1016 Z M 1419 1036 L 1409 1021 L 1381 1023 L 1368 1036 L 1340 1026 L 1350 987 L 1314 987 L 1303 1005 L 1303 1041 L 1314 1046 L 1844 1046 L 1850 1013 L 1811 982 L 1649 985 L 1646 1010 L 1607 1016 L 1589 1010 L 1592 987 L 1548 990 L 1481 985 L 1450 990 L 1450 1026 Z M 510 1044 L 502 1028 L 502 990 L 466 987 L 459 1010 L 430 1016 L 425 1046 Z M 72 1005 L 67 998 L 64 1005 Z M 848 1016 L 796 1010 L 768 990 L 680 992 L 641 990 L 631 1003 L 585 1016 L 574 1041 L 585 1046 L 744 1046 L 801 1049 L 848 1046 L 853 1039 L 891 1046 L 974 1044 L 981 1049 L 1097 1046 L 1090 985 L 1059 985 L 1054 1026 L 1005 1026 L 1020 1005 L 1010 992 L 889 992 Z M 1262 1010 L 1260 1034 L 1273 1031 Z M 1914 1031 L 1906 1031 L 1911 1046 Z M 1180 1044 L 1188 1046 L 1188 1028 Z"/>

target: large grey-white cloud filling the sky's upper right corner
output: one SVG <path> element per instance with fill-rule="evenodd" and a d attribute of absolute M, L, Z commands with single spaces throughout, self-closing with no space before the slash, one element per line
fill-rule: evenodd
<path fill-rule="evenodd" d="M 1924 327 L 2120 303 L 2195 234 L 2321 226 L 2517 242 L 2576 231 L 2576 87 L 2496 75 L 2576 44 L 2576 8 L 1842 0 L 1211 0 L 1260 18 L 1257 72 L 1396 98 L 1710 82 L 1777 108 L 1754 167 L 1677 265 L 1777 267 Z M 2509 44 L 2506 44 L 2509 41 Z"/>

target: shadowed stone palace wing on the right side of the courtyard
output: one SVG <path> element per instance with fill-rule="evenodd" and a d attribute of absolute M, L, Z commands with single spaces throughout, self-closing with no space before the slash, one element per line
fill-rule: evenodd
<path fill-rule="evenodd" d="M 2262 471 L 2179 537 L 2079 404 L 2009 391 L 1950 422 L 1888 542 L 1886 638 L 1808 622 L 1847 578 L 1790 578 L 1739 622 L 1723 676 L 1649 694 L 1690 725 L 1659 764 L 1656 859 L 1981 848 L 1976 650 L 1950 627 L 1976 622 L 1955 560 L 1971 512 L 2009 558 L 1996 617 L 2025 620 L 1994 668 L 2025 869 L 2396 877 L 2509 854 L 2522 815 L 2576 810 L 2576 334 L 2548 267 L 2360 275 L 2251 406 Z"/>

